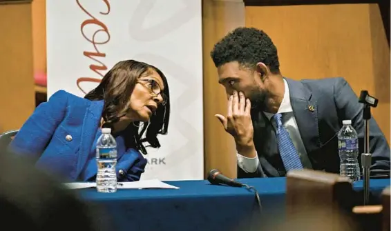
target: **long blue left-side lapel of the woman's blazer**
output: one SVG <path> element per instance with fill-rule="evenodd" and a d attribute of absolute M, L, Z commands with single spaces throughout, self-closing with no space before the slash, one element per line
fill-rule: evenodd
<path fill-rule="evenodd" d="M 86 110 L 84 116 L 82 136 L 80 141 L 80 148 L 77 162 L 77 177 L 82 172 L 84 165 L 88 160 L 90 150 L 95 141 L 95 135 L 99 127 L 100 119 L 102 118 L 104 101 L 90 101 L 90 106 Z"/>

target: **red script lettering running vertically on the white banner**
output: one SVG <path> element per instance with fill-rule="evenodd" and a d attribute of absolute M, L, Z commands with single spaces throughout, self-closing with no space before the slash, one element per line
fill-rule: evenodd
<path fill-rule="evenodd" d="M 108 3 L 108 0 L 102 0 L 106 4 L 106 12 L 99 12 L 99 14 L 107 15 L 110 12 L 110 3 Z M 99 61 L 98 58 L 106 57 L 106 53 L 100 52 L 97 48 L 97 45 L 102 45 L 108 43 L 110 41 L 110 33 L 108 32 L 108 28 L 105 23 L 102 21 L 99 21 L 96 17 L 93 17 L 86 8 L 82 6 L 80 3 L 80 0 L 76 0 L 77 5 L 80 9 L 82 9 L 89 17 L 90 19 L 86 19 L 82 22 L 82 25 L 80 27 L 80 30 L 82 32 L 82 35 L 84 39 L 86 39 L 89 43 L 93 44 L 93 51 L 83 51 L 83 54 L 85 57 L 88 57 L 89 59 L 95 61 L 95 63 L 90 64 L 89 68 L 93 72 L 99 75 L 99 77 L 79 77 L 76 81 L 77 87 L 86 94 L 87 92 L 80 86 L 80 83 L 82 82 L 91 82 L 91 83 L 100 83 L 101 79 L 104 77 L 104 74 L 102 74 L 102 71 L 107 70 L 107 66 L 102 62 Z M 89 24 L 93 24 L 95 26 L 99 26 L 95 32 L 93 32 L 91 37 L 88 37 L 85 32 L 85 26 L 88 26 Z M 106 39 L 103 41 L 97 41 L 97 34 L 104 33 L 106 35 Z M 101 78 L 102 77 L 102 78 Z"/>

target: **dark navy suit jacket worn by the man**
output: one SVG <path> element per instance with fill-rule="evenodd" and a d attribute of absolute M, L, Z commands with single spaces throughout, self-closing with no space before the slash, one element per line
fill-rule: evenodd
<path fill-rule="evenodd" d="M 285 80 L 289 86 L 294 117 L 312 168 L 339 173 L 337 134 L 342 128 L 343 120 L 352 120 L 352 126 L 359 135 L 359 153 L 364 151 L 363 104 L 359 103 L 352 88 L 341 77 Z M 309 110 L 309 106 L 313 106 L 314 110 Z M 251 119 L 260 165 L 252 173 L 238 167 L 238 178 L 284 177 L 286 171 L 271 122 L 260 110 L 251 112 Z M 390 146 L 373 118 L 370 119 L 370 153 L 372 170 L 390 170 Z M 361 166 L 361 158 L 358 159 Z"/>

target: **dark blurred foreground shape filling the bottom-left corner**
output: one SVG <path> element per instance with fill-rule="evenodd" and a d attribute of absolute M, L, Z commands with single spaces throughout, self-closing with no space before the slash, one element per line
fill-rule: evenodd
<path fill-rule="evenodd" d="M 97 211 L 31 163 L 0 151 L 0 218 L 10 230 L 104 230 Z M 100 226 L 100 227 L 99 227 Z M 98 228 L 99 227 L 99 228 Z"/>

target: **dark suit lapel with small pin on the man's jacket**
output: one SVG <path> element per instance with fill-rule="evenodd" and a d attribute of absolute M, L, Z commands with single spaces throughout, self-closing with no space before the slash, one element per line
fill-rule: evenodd
<path fill-rule="evenodd" d="M 312 100 L 312 92 L 300 81 L 285 80 L 289 86 L 294 117 L 307 154 L 321 145 L 318 132 L 318 105 Z"/>

